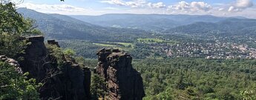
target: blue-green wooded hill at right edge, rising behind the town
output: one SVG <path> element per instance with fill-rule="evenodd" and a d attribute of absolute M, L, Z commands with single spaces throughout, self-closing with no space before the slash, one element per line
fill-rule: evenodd
<path fill-rule="evenodd" d="M 223 21 L 196 22 L 165 30 L 163 33 L 206 34 L 210 31 L 226 33 L 226 35 L 254 35 L 256 19 L 229 18 Z"/>

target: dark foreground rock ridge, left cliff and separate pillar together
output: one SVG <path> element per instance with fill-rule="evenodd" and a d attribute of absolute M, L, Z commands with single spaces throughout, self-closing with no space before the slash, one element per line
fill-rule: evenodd
<path fill-rule="evenodd" d="M 45 45 L 43 36 L 31 36 L 30 44 L 21 55 L 22 61 L 0 56 L 16 67 L 19 73 L 28 72 L 29 77 L 42 83 L 40 99 L 88 100 L 91 99 L 91 70 L 82 67 L 74 59 L 62 54 L 63 64 L 58 64 L 56 56 Z M 47 44 L 60 47 L 55 40 Z M 119 50 L 102 49 L 97 53 L 99 64 L 96 73 L 105 79 L 105 92 L 109 100 L 142 100 L 145 96 L 142 77 L 131 65 L 131 56 Z M 61 66 L 61 68 L 59 67 Z"/>

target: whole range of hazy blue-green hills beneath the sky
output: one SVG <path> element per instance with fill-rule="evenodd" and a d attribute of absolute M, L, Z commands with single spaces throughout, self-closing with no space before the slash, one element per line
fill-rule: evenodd
<path fill-rule="evenodd" d="M 128 41 L 150 37 L 148 30 L 161 33 L 206 35 L 209 32 L 225 35 L 254 35 L 256 19 L 243 17 L 105 14 L 102 16 L 65 16 L 39 13 L 19 8 L 26 18 L 36 21 L 47 39 L 81 39 L 86 41 Z"/>

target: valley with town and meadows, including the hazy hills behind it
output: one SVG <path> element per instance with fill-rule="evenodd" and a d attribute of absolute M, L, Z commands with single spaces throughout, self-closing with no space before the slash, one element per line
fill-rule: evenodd
<path fill-rule="evenodd" d="M 255 19 L 215 16 L 128 14 L 71 16 L 76 18 L 73 19 L 70 16 L 38 13 L 25 8 L 21 8 L 18 11 L 23 13 L 26 17 L 35 19 L 36 24 L 39 24 L 39 29 L 45 33 L 47 39 L 58 39 L 62 47 L 73 49 L 76 51 L 77 56 L 84 58 L 96 59 L 95 56 L 93 56 L 93 52 L 87 51 L 96 51 L 105 47 L 125 50 L 131 53 L 136 59 L 152 57 L 158 59 L 171 59 L 175 57 L 255 59 L 256 37 L 252 35 L 254 33 L 254 31 L 252 31 L 254 29 L 253 27 L 256 27 Z M 36 15 L 43 15 L 45 18 L 39 18 Z M 146 16 L 151 16 L 148 20 L 158 21 L 159 23 L 166 21 L 158 19 L 168 18 L 171 20 L 170 22 L 173 23 L 175 22 L 173 20 L 177 19 L 177 23 L 180 23 L 180 25 L 177 25 L 177 27 L 169 27 L 169 29 L 165 27 L 165 29 L 162 30 L 111 27 L 111 24 L 121 25 L 118 23 L 119 21 L 126 21 L 131 18 L 135 21 L 129 21 L 123 24 L 127 27 L 132 27 L 129 25 L 133 24 L 140 25 L 136 20 L 143 19 Z M 112 20 L 108 20 L 110 17 Z M 184 21 L 188 19 L 191 19 L 190 22 L 183 24 Z M 59 24 L 53 23 L 54 21 L 58 21 Z M 170 22 L 168 22 L 168 24 Z M 236 23 L 236 25 L 233 25 L 234 23 Z M 45 27 L 45 24 L 49 24 L 46 26 L 54 27 L 53 30 Z M 82 26 L 80 24 L 82 24 Z M 154 24 L 154 22 L 150 24 Z M 73 27 L 70 27 L 70 25 Z M 168 25 L 166 24 L 165 26 Z M 151 28 L 150 25 L 146 25 L 145 27 Z M 247 33 L 247 31 L 249 32 Z M 241 48 L 245 48 L 245 50 L 241 50 Z"/>

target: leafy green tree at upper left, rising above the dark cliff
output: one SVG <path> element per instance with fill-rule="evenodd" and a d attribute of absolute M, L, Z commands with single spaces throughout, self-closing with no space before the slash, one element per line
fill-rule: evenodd
<path fill-rule="evenodd" d="M 0 3 L 0 55 L 6 55 L 17 59 L 20 53 L 24 53 L 27 46 L 26 40 L 21 40 L 21 36 L 42 34 L 33 27 L 33 21 L 24 19 L 16 12 L 12 3 Z"/>

